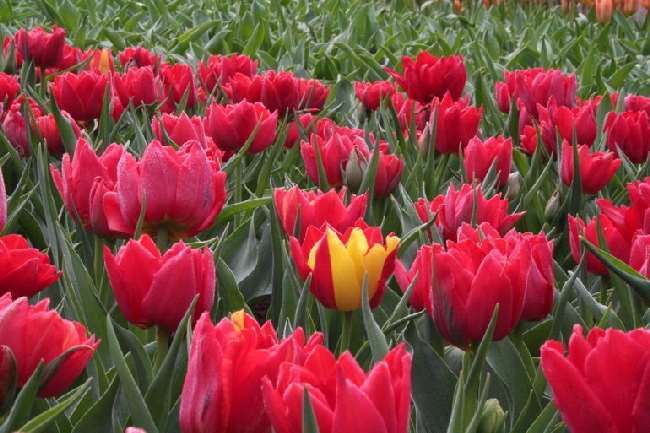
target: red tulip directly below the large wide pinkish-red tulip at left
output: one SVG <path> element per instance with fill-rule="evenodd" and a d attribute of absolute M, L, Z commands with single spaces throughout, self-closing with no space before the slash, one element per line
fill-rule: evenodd
<path fill-rule="evenodd" d="M 124 317 L 142 328 L 155 325 L 172 333 L 196 295 L 194 319 L 214 303 L 216 271 L 208 248 L 192 249 L 179 241 L 161 254 L 145 234 L 129 240 L 115 256 L 105 246 L 104 264 Z"/>

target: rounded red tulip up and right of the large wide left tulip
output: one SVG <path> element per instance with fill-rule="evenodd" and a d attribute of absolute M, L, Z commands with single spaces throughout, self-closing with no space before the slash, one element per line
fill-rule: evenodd
<path fill-rule="evenodd" d="M 249 154 L 263 152 L 273 144 L 277 124 L 276 112 L 270 113 L 261 103 L 248 101 L 226 106 L 212 104 L 204 120 L 207 134 L 217 147 L 227 152 L 241 149 L 257 128 Z"/>

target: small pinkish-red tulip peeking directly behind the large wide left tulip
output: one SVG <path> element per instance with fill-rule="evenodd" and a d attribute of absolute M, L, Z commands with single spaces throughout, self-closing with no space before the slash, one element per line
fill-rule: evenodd
<path fill-rule="evenodd" d="M 168 143 L 171 140 L 176 145 L 182 146 L 188 141 L 195 140 L 206 149 L 210 139 L 205 133 L 202 119 L 198 116 L 189 117 L 185 112 L 179 116 L 163 113 L 159 118 L 151 119 L 151 129 L 156 138 L 166 144 L 171 144 Z"/>

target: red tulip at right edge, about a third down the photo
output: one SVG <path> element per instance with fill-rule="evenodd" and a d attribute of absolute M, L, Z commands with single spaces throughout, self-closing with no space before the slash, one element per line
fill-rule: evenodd
<path fill-rule="evenodd" d="M 620 149 L 630 161 L 641 164 L 650 152 L 650 115 L 645 111 L 609 113 L 605 122 L 607 147 Z"/>

